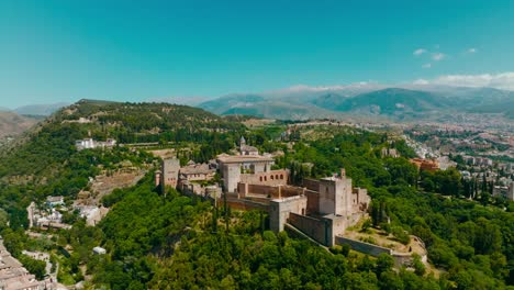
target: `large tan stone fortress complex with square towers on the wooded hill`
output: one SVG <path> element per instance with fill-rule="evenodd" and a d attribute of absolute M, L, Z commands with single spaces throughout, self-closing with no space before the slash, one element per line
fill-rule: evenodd
<path fill-rule="evenodd" d="M 260 155 L 242 138 L 238 154 L 221 154 L 209 164 L 180 167 L 177 159 L 165 159 L 155 181 L 182 191 L 191 187 L 195 194 L 214 200 L 222 198 L 222 191 L 231 208 L 267 211 L 272 231 L 289 227 L 326 246 L 334 245 L 337 235 L 366 214 L 370 202 L 367 190 L 353 188 L 344 169 L 327 178 L 305 179 L 299 187 L 290 185 L 289 170 L 272 169 L 273 165 L 270 155 Z M 222 188 L 202 188 L 198 183 L 212 180 L 216 170 Z M 209 190 L 216 193 L 210 194 Z"/>

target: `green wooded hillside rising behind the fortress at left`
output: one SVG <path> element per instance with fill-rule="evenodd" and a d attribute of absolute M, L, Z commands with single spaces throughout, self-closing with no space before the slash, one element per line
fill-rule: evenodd
<path fill-rule="evenodd" d="M 15 149 L 4 153 L 0 159 L 0 180 L 8 182 L 18 176 L 22 177 L 19 182 L 25 182 L 33 180 L 34 175 L 40 179 L 58 176 L 63 165 L 81 154 L 76 150 L 75 141 L 86 137 L 114 138 L 119 144 L 217 137 L 223 146 L 232 146 L 244 130 L 241 123 L 186 105 L 81 100 L 54 113 L 19 142 Z M 216 143 L 213 145 L 215 148 Z"/>

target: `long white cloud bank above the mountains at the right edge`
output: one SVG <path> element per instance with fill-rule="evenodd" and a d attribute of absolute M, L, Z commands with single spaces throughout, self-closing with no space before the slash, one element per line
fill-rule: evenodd
<path fill-rule="evenodd" d="M 423 83 L 420 83 L 423 82 Z M 414 85 L 445 85 L 457 87 L 490 87 L 514 90 L 514 72 L 482 74 L 482 75 L 446 75 L 433 80 L 416 80 Z"/>

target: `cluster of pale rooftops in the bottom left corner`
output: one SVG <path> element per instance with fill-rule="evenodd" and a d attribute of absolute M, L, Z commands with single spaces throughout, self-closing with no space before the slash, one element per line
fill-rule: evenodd
<path fill-rule="evenodd" d="M 0 237 L 0 289 L 43 290 L 56 289 L 56 285 L 52 279 L 38 281 L 18 259 L 11 256 Z"/>

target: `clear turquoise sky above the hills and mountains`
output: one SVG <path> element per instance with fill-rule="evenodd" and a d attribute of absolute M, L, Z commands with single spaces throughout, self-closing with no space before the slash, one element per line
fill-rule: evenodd
<path fill-rule="evenodd" d="M 514 90 L 514 1 L 0 1 L 0 107 L 304 86 Z"/>

